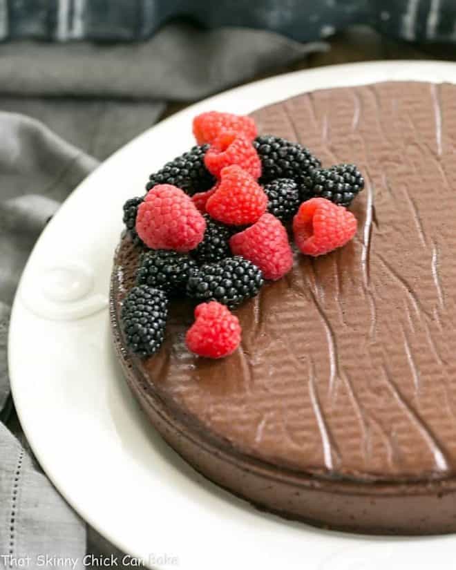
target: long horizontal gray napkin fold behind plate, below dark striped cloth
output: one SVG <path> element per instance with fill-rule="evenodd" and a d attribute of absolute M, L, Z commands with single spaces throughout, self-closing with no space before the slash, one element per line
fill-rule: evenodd
<path fill-rule="evenodd" d="M 0 46 L 0 92 L 193 101 L 325 49 L 265 30 L 207 31 L 188 23 L 169 23 L 136 44 L 15 41 Z"/>

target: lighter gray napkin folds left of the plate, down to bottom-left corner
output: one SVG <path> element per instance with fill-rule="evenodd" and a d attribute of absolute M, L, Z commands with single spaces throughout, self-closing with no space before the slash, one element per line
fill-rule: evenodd
<path fill-rule="evenodd" d="M 10 303 L 30 249 L 48 219 L 97 161 L 23 115 L 0 112 L 0 406 L 8 399 L 6 338 Z M 86 529 L 0 424 L 0 568 L 41 555 L 77 558 Z M 46 559 L 44 560 L 46 562 Z"/>

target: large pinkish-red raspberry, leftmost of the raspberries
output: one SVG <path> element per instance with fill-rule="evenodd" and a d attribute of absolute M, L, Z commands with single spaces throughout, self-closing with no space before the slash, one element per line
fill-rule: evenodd
<path fill-rule="evenodd" d="M 137 208 L 136 231 L 151 249 L 194 249 L 202 240 L 206 220 L 180 188 L 157 184 Z"/>

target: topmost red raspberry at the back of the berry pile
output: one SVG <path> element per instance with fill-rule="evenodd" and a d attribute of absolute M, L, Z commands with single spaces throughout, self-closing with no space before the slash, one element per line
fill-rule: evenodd
<path fill-rule="evenodd" d="M 217 111 L 201 113 L 193 119 L 193 135 L 198 144 L 213 142 L 223 131 L 234 131 L 249 140 L 254 140 L 256 124 L 251 117 L 246 115 L 231 115 L 231 113 L 218 113 Z"/>

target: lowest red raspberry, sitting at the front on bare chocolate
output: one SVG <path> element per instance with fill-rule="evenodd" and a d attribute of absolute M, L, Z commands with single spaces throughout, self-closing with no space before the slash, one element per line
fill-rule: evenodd
<path fill-rule="evenodd" d="M 195 309 L 196 321 L 185 336 L 191 352 L 206 358 L 222 358 L 240 344 L 240 324 L 225 305 L 217 301 L 200 303 Z"/>

